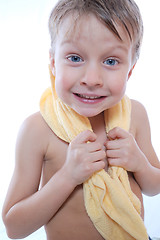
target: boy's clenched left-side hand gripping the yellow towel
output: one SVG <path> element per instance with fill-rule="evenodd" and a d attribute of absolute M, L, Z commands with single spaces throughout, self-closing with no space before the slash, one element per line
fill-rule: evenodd
<path fill-rule="evenodd" d="M 77 186 L 105 167 L 105 157 L 104 146 L 96 142 L 96 134 L 84 131 L 69 144 L 65 171 Z"/>

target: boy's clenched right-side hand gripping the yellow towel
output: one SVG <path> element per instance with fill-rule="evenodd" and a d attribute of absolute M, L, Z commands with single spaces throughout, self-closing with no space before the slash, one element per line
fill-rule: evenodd
<path fill-rule="evenodd" d="M 131 172 L 138 172 L 143 167 L 145 156 L 131 133 L 116 127 L 109 131 L 105 145 L 109 165 Z"/>

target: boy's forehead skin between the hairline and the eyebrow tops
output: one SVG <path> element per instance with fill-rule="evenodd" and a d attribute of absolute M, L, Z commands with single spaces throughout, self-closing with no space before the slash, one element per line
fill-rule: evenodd
<path fill-rule="evenodd" d="M 106 38 L 107 40 L 107 35 L 109 35 L 108 33 L 110 32 L 120 43 L 130 44 L 131 39 L 124 26 L 120 22 L 115 21 L 115 28 L 120 37 L 113 33 L 104 22 L 93 14 L 83 14 L 82 16 L 72 14 L 66 16 L 61 22 L 57 38 L 60 41 L 67 41 L 69 39 L 78 41 L 82 38 L 85 40 L 85 37 L 88 38 L 88 36 L 94 38 L 94 35 L 99 35 L 99 38 Z"/>

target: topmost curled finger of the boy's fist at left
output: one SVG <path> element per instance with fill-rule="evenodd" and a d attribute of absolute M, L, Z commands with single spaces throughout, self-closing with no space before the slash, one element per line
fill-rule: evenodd
<path fill-rule="evenodd" d="M 96 140 L 97 136 L 94 132 L 90 130 L 86 130 L 78 134 L 75 139 L 73 140 L 74 143 L 81 144 L 81 143 L 87 143 L 94 142 Z"/>

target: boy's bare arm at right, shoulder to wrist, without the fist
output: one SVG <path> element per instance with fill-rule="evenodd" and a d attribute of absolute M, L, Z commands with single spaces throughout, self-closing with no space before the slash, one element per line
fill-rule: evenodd
<path fill-rule="evenodd" d="M 134 173 L 143 193 L 156 195 L 160 193 L 160 162 L 151 142 L 151 131 L 145 108 L 133 102 L 133 121 L 136 121 L 136 142 L 142 151 L 139 170 Z"/>

